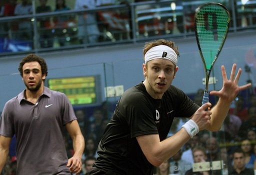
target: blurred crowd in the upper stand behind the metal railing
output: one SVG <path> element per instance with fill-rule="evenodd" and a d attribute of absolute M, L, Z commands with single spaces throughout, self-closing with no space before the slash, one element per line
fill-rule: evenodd
<path fill-rule="evenodd" d="M 22 51 L 33 48 L 58 48 L 67 45 L 95 44 L 130 40 L 132 37 L 180 34 L 194 31 L 194 13 L 198 3 L 180 0 L 137 4 L 131 10 L 131 2 L 148 0 L 35 0 L 35 14 L 51 13 L 35 18 L 21 17 L 0 21 L 0 52 Z M 231 10 L 232 0 L 223 1 Z M 234 2 L 238 27 L 254 25 L 256 19 L 247 11 L 254 10 L 254 2 L 240 6 Z M 122 8 L 100 9 L 124 4 Z M 171 10 L 168 13 L 166 6 Z M 68 12 L 94 9 L 93 11 Z M 239 14 L 237 11 L 242 10 Z M 131 14 L 131 11 L 134 11 Z M 247 12 L 247 13 L 246 13 Z M 231 11 L 230 11 L 231 13 Z M 31 15 L 31 0 L 1 0 L 0 17 Z M 135 25 L 131 17 L 134 17 Z M 35 28 L 34 28 L 34 23 Z M 36 32 L 34 32 L 36 31 Z M 135 32 L 135 33 L 132 33 Z M 11 46 L 9 46 L 11 43 Z M 16 46 L 15 45 L 19 45 Z"/>

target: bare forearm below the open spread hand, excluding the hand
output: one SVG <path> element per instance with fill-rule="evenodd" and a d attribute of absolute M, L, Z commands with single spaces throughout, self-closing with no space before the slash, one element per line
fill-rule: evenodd
<path fill-rule="evenodd" d="M 210 131 L 217 131 L 220 129 L 229 109 L 229 102 L 219 98 L 216 105 L 211 109 L 210 126 L 207 128 Z"/>

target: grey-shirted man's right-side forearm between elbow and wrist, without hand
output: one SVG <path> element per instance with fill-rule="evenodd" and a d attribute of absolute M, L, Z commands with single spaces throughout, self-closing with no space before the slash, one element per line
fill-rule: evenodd
<path fill-rule="evenodd" d="M 73 149 L 74 149 L 74 156 L 82 157 L 82 153 L 84 150 L 84 138 L 82 134 L 77 134 L 73 137 Z"/>

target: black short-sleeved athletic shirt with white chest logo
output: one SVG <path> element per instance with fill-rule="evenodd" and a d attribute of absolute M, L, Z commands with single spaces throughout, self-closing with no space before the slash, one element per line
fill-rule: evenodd
<path fill-rule="evenodd" d="M 136 136 L 166 138 L 173 117 L 190 117 L 199 106 L 180 89 L 170 86 L 161 99 L 152 98 L 141 82 L 127 89 L 117 102 L 98 145 L 94 170 L 119 174 L 153 174 Z"/>

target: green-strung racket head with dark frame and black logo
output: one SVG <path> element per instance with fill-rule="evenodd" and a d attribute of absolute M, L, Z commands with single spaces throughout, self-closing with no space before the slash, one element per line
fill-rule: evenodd
<path fill-rule="evenodd" d="M 208 76 L 224 44 L 230 21 L 227 8 L 215 2 L 200 5 L 195 10 L 195 36 L 199 53 Z"/>

